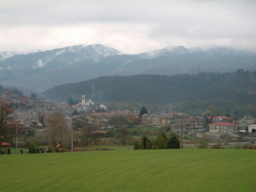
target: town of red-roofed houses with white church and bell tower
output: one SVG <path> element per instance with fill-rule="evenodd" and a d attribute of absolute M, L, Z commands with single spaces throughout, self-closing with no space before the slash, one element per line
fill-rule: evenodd
<path fill-rule="evenodd" d="M 97 125 L 98 130 L 118 127 L 113 121 L 129 122 L 129 125 L 149 125 L 154 127 L 168 127 L 170 132 L 177 135 L 192 135 L 198 138 L 207 138 L 214 141 L 238 140 L 238 133 L 256 133 L 256 118 L 244 116 L 234 120 L 228 116 L 191 116 L 170 108 L 166 113 L 148 111 L 140 116 L 140 111 L 108 110 L 106 105 L 96 104 L 91 99 L 81 96 L 77 105 L 66 102 L 47 102 L 44 95 L 19 96 L 13 94 L 2 95 L 13 113 L 8 116 L 8 124 L 19 128 L 43 129 L 44 119 L 55 111 L 64 114 L 66 119 L 73 120 L 73 128 L 79 119 L 86 119 L 88 123 Z"/>

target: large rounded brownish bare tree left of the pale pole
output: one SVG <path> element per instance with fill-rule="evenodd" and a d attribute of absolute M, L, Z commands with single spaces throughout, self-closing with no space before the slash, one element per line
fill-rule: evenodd
<path fill-rule="evenodd" d="M 70 120 L 65 119 L 64 114 L 59 111 L 53 112 L 50 116 L 45 117 L 44 129 L 41 137 L 51 143 L 53 146 L 70 142 Z"/>

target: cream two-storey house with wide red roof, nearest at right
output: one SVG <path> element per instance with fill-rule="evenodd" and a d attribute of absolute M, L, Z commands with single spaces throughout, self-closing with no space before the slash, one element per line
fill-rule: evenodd
<path fill-rule="evenodd" d="M 231 137 L 238 137 L 238 125 L 230 122 L 218 121 L 209 124 L 209 132 L 225 133 L 229 134 Z"/>

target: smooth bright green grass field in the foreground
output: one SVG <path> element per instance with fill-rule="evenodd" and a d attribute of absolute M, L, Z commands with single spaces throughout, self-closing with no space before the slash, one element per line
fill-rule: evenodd
<path fill-rule="evenodd" d="M 114 150 L 0 156 L 0 191 L 253 192 L 256 151 Z"/>

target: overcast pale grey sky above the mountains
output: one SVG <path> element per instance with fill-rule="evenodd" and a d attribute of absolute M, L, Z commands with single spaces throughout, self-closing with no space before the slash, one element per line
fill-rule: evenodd
<path fill-rule="evenodd" d="M 256 52 L 255 0 L 0 0 L 0 52 L 103 44 Z"/>

